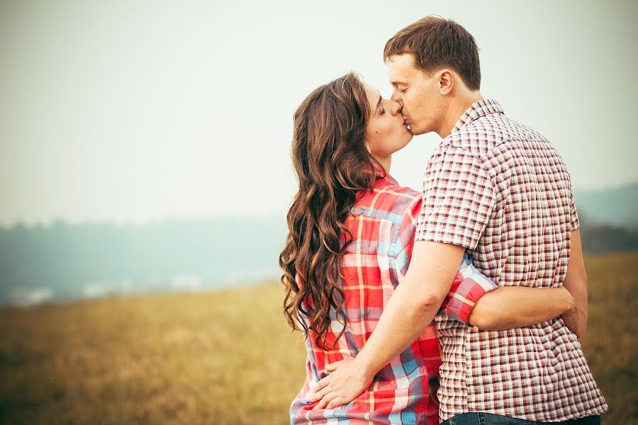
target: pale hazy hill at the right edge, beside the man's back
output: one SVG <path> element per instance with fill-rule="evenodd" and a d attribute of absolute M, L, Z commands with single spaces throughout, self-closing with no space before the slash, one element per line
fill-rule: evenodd
<path fill-rule="evenodd" d="M 638 183 L 599 191 L 573 191 L 578 214 L 586 222 L 638 229 Z"/>

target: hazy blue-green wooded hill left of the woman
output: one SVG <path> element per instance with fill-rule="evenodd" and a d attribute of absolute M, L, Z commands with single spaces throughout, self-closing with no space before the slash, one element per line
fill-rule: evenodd
<path fill-rule="evenodd" d="M 0 305 L 272 280 L 285 237 L 284 217 L 0 227 Z"/>

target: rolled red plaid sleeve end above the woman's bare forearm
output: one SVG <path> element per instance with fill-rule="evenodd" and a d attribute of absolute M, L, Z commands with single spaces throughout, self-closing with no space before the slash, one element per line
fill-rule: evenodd
<path fill-rule="evenodd" d="M 476 302 L 496 288 L 498 285 L 493 280 L 476 270 L 471 256 L 466 251 L 439 313 L 448 314 L 459 322 L 467 323 Z"/>

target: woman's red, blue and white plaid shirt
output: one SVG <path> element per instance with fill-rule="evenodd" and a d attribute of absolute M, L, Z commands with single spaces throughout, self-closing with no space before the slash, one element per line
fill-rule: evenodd
<path fill-rule="evenodd" d="M 341 261 L 339 284 L 345 293 L 347 329 L 331 312 L 332 327 L 325 351 L 306 339 L 306 382 L 291 405 L 291 424 L 438 424 L 438 404 L 429 380 L 436 378 L 440 346 L 434 325 L 427 327 L 400 356 L 376 374 L 371 386 L 357 399 L 337 409 L 313 409 L 308 395 L 325 376 L 325 365 L 357 355 L 379 321 L 384 305 L 408 271 L 414 246 L 420 193 L 398 186 L 390 176 L 377 179 L 374 191 L 362 193 L 345 222 L 353 242 Z M 302 282 L 299 282 L 303 285 Z M 474 302 L 497 288 L 471 264 L 469 256 L 459 266 L 447 295 L 448 317 L 467 320 Z M 306 322 L 308 323 L 308 322 Z"/>

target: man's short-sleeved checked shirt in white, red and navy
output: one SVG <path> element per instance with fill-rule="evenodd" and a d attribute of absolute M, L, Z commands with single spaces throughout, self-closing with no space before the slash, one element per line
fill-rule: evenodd
<path fill-rule="evenodd" d="M 427 164 L 416 239 L 466 247 L 498 285 L 562 285 L 576 228 L 563 159 L 495 101 L 474 103 Z M 564 421 L 607 410 L 561 319 L 482 331 L 443 314 L 437 330 L 442 420 L 489 412 Z"/>

